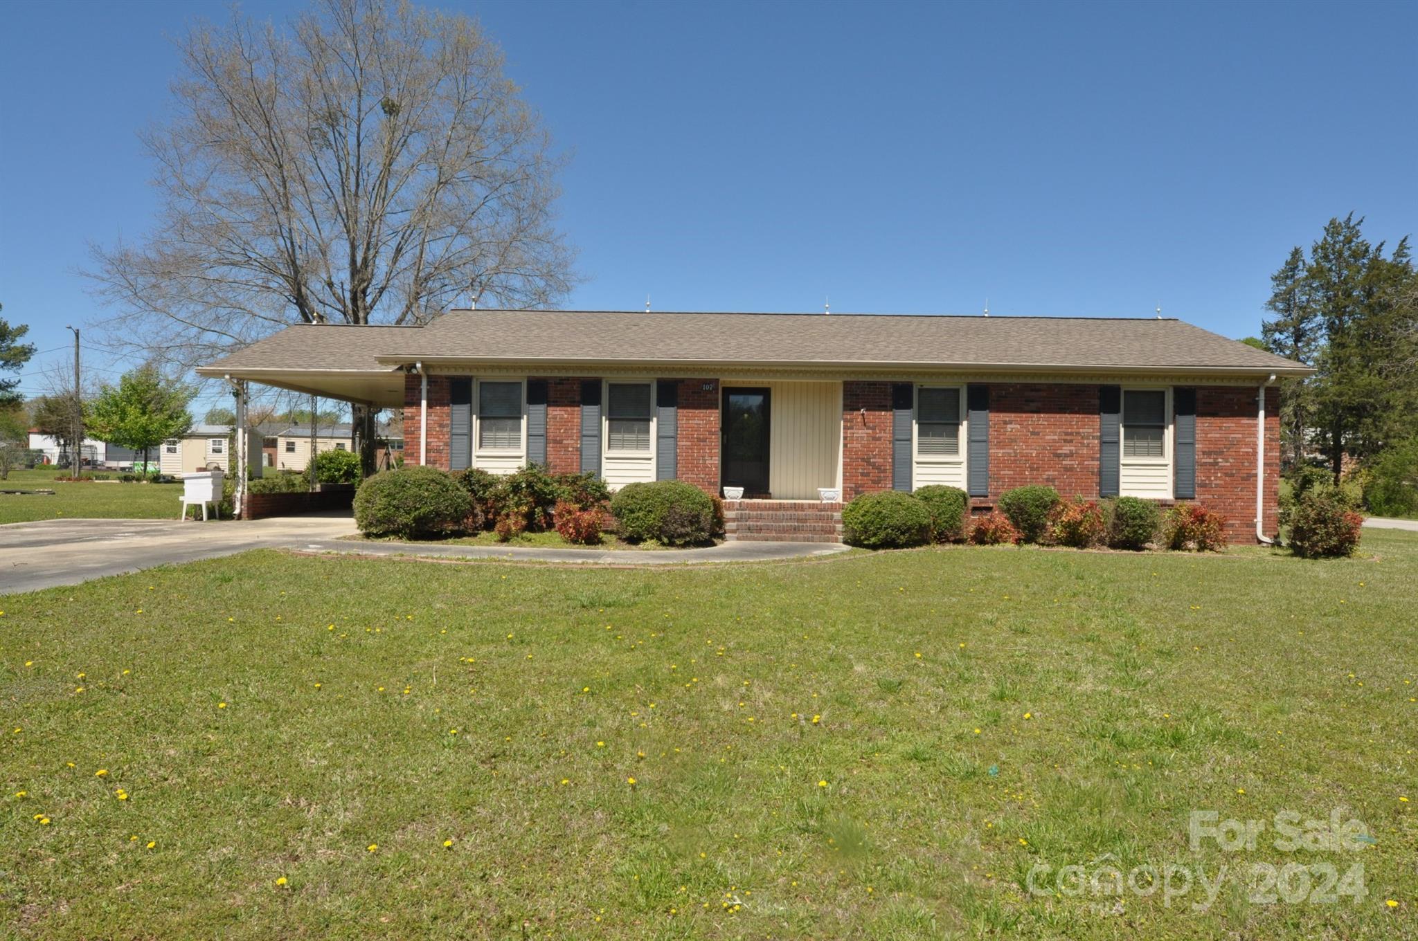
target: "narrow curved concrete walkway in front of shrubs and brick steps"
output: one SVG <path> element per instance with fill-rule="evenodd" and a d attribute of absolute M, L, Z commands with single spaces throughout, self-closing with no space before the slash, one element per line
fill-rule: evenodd
<path fill-rule="evenodd" d="M 703 548 L 542 548 L 530 546 L 450 546 L 447 543 L 366 543 L 363 540 L 306 546 L 315 553 L 356 556 L 428 556 L 435 558 L 495 558 L 509 563 L 583 565 L 686 565 L 703 563 L 770 563 L 845 553 L 839 543 L 719 543 Z"/>

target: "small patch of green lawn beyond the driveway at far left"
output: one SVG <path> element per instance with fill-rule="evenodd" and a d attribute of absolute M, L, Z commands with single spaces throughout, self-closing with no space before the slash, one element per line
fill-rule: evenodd
<path fill-rule="evenodd" d="M 0 523 L 28 523 L 58 519 L 177 519 L 182 507 L 180 483 L 61 483 L 61 468 L 11 470 L 0 489 L 17 488 L 48 495 L 0 493 Z"/>

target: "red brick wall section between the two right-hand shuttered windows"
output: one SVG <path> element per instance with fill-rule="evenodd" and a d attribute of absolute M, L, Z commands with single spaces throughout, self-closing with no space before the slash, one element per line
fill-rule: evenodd
<path fill-rule="evenodd" d="M 1046 483 L 1098 496 L 1098 385 L 990 385 L 990 496 Z"/>

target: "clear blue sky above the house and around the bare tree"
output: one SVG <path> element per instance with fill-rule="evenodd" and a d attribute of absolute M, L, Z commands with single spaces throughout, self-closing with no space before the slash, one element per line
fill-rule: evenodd
<path fill-rule="evenodd" d="M 1329 217 L 1418 228 L 1418 4 L 434 6 L 482 20 L 571 154 L 569 306 L 1160 303 L 1241 337 Z M 193 16 L 225 4 L 0 9 L 0 316 L 41 350 L 102 317 L 86 244 L 152 218 L 136 130 L 169 106 L 167 37 Z"/>

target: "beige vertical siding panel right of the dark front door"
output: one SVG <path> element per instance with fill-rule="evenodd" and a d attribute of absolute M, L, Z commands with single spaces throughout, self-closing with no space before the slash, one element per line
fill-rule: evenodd
<path fill-rule="evenodd" d="M 841 383 L 769 383 L 769 490 L 776 500 L 815 500 L 838 486 Z"/>

